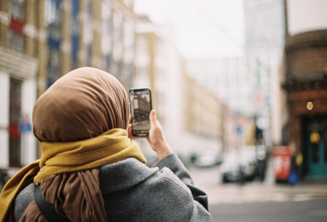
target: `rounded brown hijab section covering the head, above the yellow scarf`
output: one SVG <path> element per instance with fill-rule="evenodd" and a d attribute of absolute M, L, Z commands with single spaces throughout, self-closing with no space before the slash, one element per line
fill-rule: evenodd
<path fill-rule="evenodd" d="M 61 77 L 33 109 L 33 132 L 41 142 L 90 139 L 128 124 L 126 90 L 111 74 L 91 67 Z"/>

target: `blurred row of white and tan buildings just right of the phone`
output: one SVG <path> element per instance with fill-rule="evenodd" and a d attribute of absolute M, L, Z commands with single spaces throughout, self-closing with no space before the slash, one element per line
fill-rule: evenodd
<path fill-rule="evenodd" d="M 192 154 L 217 154 L 222 143 L 220 101 L 188 76 L 173 30 L 155 26 L 146 15 L 138 18 L 133 86 L 151 87 L 152 107 L 168 143 L 183 161 Z"/>

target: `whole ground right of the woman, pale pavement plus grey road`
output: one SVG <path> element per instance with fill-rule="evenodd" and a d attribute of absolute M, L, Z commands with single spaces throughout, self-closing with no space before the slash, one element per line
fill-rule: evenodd
<path fill-rule="evenodd" d="M 271 162 L 263 182 L 221 183 L 219 167 L 189 167 L 195 185 L 208 194 L 215 222 L 327 222 L 327 183 L 275 184 Z"/>

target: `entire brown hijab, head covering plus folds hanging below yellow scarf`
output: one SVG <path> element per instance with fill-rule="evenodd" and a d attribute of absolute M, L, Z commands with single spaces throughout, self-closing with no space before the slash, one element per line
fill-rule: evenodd
<path fill-rule="evenodd" d="M 111 74 L 83 67 L 57 80 L 35 103 L 33 132 L 39 141 L 80 141 L 127 129 L 129 100 Z M 61 173 L 41 181 L 45 199 L 72 221 L 107 221 L 98 169 Z M 32 201 L 20 221 L 46 221 Z"/>

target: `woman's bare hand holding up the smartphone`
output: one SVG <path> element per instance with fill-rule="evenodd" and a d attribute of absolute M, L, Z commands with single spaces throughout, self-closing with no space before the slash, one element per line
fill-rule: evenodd
<path fill-rule="evenodd" d="M 147 141 L 150 143 L 151 148 L 155 152 L 157 152 L 159 159 L 162 159 L 166 155 L 171 154 L 172 150 L 170 149 L 170 146 L 168 145 L 166 138 L 163 135 L 163 129 L 157 119 L 157 114 L 155 110 L 151 110 L 149 119 L 150 119 L 149 136 L 143 138 L 147 139 Z M 129 118 L 129 122 L 131 122 L 131 117 Z M 130 139 L 142 138 L 142 137 L 134 137 L 132 135 L 131 123 L 129 124 L 128 127 L 128 135 Z"/>

